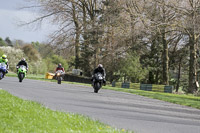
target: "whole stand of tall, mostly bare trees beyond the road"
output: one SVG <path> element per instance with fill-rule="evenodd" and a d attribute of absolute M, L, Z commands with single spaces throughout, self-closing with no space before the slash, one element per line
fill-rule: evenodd
<path fill-rule="evenodd" d="M 52 23 L 59 25 L 51 34 L 55 53 L 65 59 L 75 57 L 71 64 L 87 76 L 102 63 L 107 67 L 109 81 L 119 79 L 120 71 L 123 78 L 142 81 L 135 70 L 129 68 L 137 77 L 133 79 L 133 74 L 117 65 L 131 49 L 139 56 L 141 66 L 149 71 L 144 74 L 149 83 L 169 84 L 173 78 L 170 72 L 178 73 L 177 81 L 181 82 L 181 75 L 188 74 L 187 89 L 192 93 L 197 89 L 194 81 L 197 81 L 196 73 L 200 67 L 197 61 L 199 6 L 199 0 L 36 1 L 30 8 L 41 7 L 41 16 L 27 23 L 38 24 L 50 18 Z M 38 42 L 34 43 L 38 51 L 39 46 Z M 187 54 L 180 54 L 180 49 L 184 48 Z M 63 49 L 69 49 L 70 54 Z M 42 57 L 47 58 L 48 52 L 44 51 Z M 181 55 L 185 59 L 181 60 Z M 118 77 L 114 78 L 115 75 Z M 182 83 L 176 82 L 176 86 L 179 84 Z"/>

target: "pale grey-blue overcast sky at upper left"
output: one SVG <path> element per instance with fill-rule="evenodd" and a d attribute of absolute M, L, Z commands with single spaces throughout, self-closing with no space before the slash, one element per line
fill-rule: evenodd
<path fill-rule="evenodd" d="M 31 11 L 19 10 L 22 5 L 26 5 L 24 0 L 1 0 L 0 4 L 0 37 L 11 40 L 23 40 L 25 42 L 39 41 L 45 42 L 48 35 L 55 29 L 48 23 L 35 30 L 32 27 L 19 27 L 20 21 L 28 21 L 36 17 L 36 13 Z M 54 29 L 53 29 L 54 28 Z"/>

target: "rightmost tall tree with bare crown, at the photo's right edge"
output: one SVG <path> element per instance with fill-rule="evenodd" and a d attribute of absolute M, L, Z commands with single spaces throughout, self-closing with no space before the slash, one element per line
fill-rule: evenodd
<path fill-rule="evenodd" d="M 179 14 L 178 18 L 180 21 L 177 21 L 176 26 L 179 27 L 184 37 L 188 38 L 186 40 L 190 47 L 188 92 L 193 93 L 197 90 L 197 46 L 200 36 L 200 1 L 177 0 L 176 3 L 173 5 L 169 4 L 168 7 L 171 7 L 171 9 Z"/>

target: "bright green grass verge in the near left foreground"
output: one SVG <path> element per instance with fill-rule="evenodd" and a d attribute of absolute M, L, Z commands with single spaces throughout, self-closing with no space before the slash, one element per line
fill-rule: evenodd
<path fill-rule="evenodd" d="M 32 101 L 22 100 L 0 90 L 1 133 L 120 133 L 88 117 L 52 111 Z"/>

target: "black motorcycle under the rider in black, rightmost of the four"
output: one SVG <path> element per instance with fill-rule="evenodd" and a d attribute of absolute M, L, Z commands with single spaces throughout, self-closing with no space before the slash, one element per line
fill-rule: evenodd
<path fill-rule="evenodd" d="M 94 79 L 93 79 L 93 88 L 94 92 L 98 93 L 98 91 L 101 89 L 103 85 L 103 75 L 101 73 L 96 73 L 94 74 Z"/>

